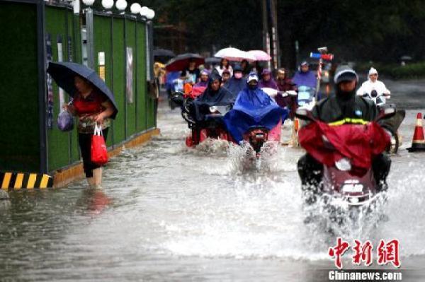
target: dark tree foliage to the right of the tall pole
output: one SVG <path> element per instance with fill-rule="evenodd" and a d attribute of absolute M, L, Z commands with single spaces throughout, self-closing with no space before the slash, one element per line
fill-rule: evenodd
<path fill-rule="evenodd" d="M 327 45 L 346 60 L 423 59 L 425 2 L 376 0 L 278 1 L 279 29 L 310 52 Z"/>

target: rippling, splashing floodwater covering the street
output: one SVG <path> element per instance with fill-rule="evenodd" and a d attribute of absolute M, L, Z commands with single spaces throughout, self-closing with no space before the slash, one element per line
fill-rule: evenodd
<path fill-rule="evenodd" d="M 317 269 L 334 269 L 327 250 L 337 236 L 375 248 L 397 238 L 410 274 L 403 281 L 424 281 L 425 155 L 405 150 L 417 112 L 407 111 L 375 219 L 329 232 L 304 223 L 301 149 L 278 146 L 259 168 L 242 169 L 238 147 L 186 148 L 186 124 L 162 103 L 161 136 L 113 158 L 103 189 L 87 190 L 81 180 L 9 192 L 0 202 L 0 281 L 313 281 Z M 370 268 L 382 269 L 374 260 Z"/>

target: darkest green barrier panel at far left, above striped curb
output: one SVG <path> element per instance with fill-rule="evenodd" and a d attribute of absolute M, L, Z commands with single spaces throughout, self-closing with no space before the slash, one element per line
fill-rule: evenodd
<path fill-rule="evenodd" d="M 0 1 L 0 170 L 40 170 L 37 7 Z"/>

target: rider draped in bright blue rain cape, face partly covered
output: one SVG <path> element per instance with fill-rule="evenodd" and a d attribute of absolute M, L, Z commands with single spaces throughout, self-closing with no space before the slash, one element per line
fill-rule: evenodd
<path fill-rule="evenodd" d="M 249 74 L 246 82 L 246 88 L 237 96 L 233 109 L 225 115 L 227 131 L 237 143 L 251 127 L 271 130 L 288 117 L 288 110 L 279 107 L 258 87 L 259 78 L 255 73 Z"/>

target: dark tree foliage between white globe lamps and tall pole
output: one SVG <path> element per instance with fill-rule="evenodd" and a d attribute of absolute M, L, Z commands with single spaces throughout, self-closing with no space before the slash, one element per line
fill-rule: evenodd
<path fill-rule="evenodd" d="M 261 3 L 244 0 L 150 0 L 167 23 L 184 23 L 191 51 L 211 51 L 212 46 L 258 49 L 261 41 Z M 157 24 L 157 23 L 156 23 Z"/>

